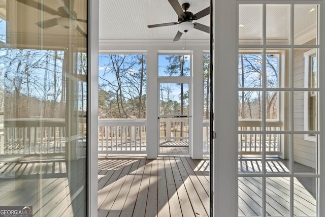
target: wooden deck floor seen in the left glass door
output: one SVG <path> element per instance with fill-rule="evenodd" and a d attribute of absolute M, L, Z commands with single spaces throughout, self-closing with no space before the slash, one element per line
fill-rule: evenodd
<path fill-rule="evenodd" d="M 81 165 L 83 162 L 73 163 Z M 84 202 L 80 202 L 82 198 L 79 198 L 85 195 L 86 188 L 80 197 L 79 194 L 73 194 L 79 190 L 80 183 L 85 182 L 86 177 L 77 176 L 74 171 L 70 174 L 69 177 L 67 163 L 61 157 L 43 160 L 37 157 L 2 158 L 0 204 L 32 206 L 33 216 L 81 216 L 80 212 L 85 212 L 85 209 L 80 207 L 85 207 L 86 201 L 83 198 Z"/>

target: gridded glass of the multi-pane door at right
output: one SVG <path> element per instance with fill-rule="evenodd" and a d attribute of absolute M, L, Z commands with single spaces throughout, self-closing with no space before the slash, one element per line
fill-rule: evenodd
<path fill-rule="evenodd" d="M 238 4 L 238 216 L 323 216 L 318 13 Z"/>

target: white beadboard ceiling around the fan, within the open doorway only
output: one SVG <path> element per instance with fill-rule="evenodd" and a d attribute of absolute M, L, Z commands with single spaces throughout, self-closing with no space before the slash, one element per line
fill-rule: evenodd
<path fill-rule="evenodd" d="M 193 14 L 209 7 L 209 0 L 179 0 L 189 3 Z M 148 28 L 147 25 L 177 22 L 178 17 L 167 0 L 100 0 L 100 40 L 171 40 L 178 26 Z M 209 16 L 193 21 L 210 25 Z M 183 34 L 184 35 L 184 34 Z M 184 36 L 185 37 L 185 36 Z M 192 29 L 187 39 L 209 40 L 209 34 Z"/>

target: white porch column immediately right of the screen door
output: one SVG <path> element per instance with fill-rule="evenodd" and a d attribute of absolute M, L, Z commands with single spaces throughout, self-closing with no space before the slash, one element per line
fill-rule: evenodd
<path fill-rule="evenodd" d="M 192 117 L 190 140 L 192 159 L 203 158 L 203 51 L 194 50 L 192 59 Z"/>

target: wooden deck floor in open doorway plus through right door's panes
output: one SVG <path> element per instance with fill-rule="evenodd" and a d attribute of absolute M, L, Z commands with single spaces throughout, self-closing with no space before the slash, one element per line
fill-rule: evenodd
<path fill-rule="evenodd" d="M 288 172 L 285 161 L 267 163 L 270 171 Z M 256 159 L 245 159 L 239 161 L 239 168 L 257 171 L 258 164 Z M 100 158 L 98 177 L 99 216 L 208 216 L 208 158 Z M 239 216 L 262 216 L 262 178 L 240 177 L 238 185 Z M 287 177 L 266 179 L 267 216 L 289 216 L 289 186 Z M 314 179 L 294 178 L 295 216 L 316 216 L 315 198 Z"/>

